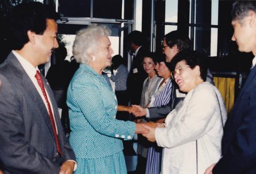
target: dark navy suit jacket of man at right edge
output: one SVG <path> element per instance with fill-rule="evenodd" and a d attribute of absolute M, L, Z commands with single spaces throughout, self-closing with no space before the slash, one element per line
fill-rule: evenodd
<path fill-rule="evenodd" d="M 230 112 L 222 138 L 222 158 L 213 173 L 256 173 L 256 68 Z"/>

